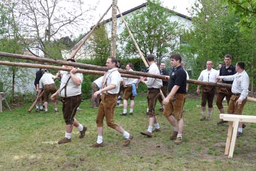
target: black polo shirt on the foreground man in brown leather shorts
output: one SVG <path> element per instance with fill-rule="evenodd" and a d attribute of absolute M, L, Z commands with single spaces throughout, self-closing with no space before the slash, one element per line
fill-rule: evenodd
<path fill-rule="evenodd" d="M 176 93 L 186 94 L 187 74 L 181 65 L 172 69 L 168 91 L 171 91 L 175 85 L 180 86 Z"/>

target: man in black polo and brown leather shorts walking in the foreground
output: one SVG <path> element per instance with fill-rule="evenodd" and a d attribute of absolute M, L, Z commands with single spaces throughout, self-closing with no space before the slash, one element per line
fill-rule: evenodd
<path fill-rule="evenodd" d="M 170 93 L 163 100 L 164 116 L 174 128 L 170 139 L 175 140 L 175 144 L 182 143 L 183 132 L 183 105 L 186 94 L 187 74 L 181 66 L 181 57 L 179 54 L 173 54 L 171 57 L 172 72 L 168 83 L 168 91 Z M 175 122 L 177 120 L 177 124 Z"/>

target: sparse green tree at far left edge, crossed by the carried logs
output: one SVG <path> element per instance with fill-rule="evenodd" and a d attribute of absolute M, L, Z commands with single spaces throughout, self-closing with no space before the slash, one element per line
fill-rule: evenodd
<path fill-rule="evenodd" d="M 0 2 L 1 10 L 1 27 L 0 27 L 0 51 L 9 53 L 22 53 L 22 44 L 18 39 L 17 30 L 15 27 L 14 18 L 12 14 L 13 8 L 3 5 Z M 1 57 L 1 60 L 19 61 L 15 59 L 7 59 Z M 2 81 L 2 90 L 11 91 L 12 99 L 14 99 L 14 90 L 16 88 L 27 85 L 31 81 L 31 72 L 27 72 L 24 68 L 18 68 L 15 66 L 0 66 L 0 79 Z M 10 85 L 11 82 L 11 85 Z"/>

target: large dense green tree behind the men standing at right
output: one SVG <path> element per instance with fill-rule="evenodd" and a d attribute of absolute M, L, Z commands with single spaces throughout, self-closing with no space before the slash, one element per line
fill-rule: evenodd
<path fill-rule="evenodd" d="M 237 16 L 229 14 L 219 0 L 196 1 L 192 15 L 193 27 L 184 33 L 186 44 L 181 44 L 180 51 L 196 76 L 205 69 L 208 60 L 218 64 L 228 53 L 236 59 L 242 36 L 236 25 Z"/>

